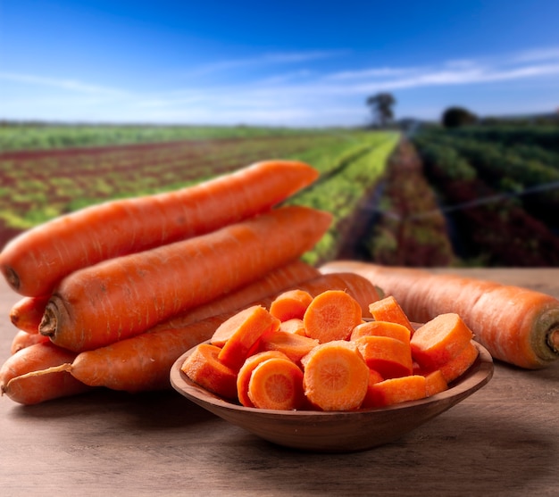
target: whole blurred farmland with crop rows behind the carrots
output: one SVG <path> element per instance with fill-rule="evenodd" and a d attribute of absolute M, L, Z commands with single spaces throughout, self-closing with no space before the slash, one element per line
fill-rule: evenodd
<path fill-rule="evenodd" d="M 0 246 L 113 198 L 272 158 L 321 172 L 288 203 L 335 222 L 305 258 L 405 266 L 559 265 L 559 127 L 0 126 Z"/>

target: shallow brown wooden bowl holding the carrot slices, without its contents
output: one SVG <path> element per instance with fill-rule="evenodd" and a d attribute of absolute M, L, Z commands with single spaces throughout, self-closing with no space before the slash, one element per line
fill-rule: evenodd
<path fill-rule="evenodd" d="M 305 451 L 363 451 L 395 441 L 486 385 L 493 376 L 493 360 L 484 347 L 476 345 L 478 359 L 448 390 L 388 408 L 350 412 L 246 408 L 188 379 L 180 367 L 192 351 L 174 363 L 171 385 L 190 401 L 271 443 Z"/>

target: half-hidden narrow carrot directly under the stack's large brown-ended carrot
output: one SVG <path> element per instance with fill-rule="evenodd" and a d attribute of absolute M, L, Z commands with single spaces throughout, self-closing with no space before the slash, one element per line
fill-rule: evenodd
<path fill-rule="evenodd" d="M 291 261 L 278 269 L 272 269 L 264 277 L 254 281 L 254 283 L 242 286 L 233 292 L 227 292 L 211 302 L 179 313 L 171 319 L 155 325 L 153 328 L 150 328 L 150 332 L 158 329 L 185 327 L 190 323 L 201 321 L 211 316 L 217 316 L 229 311 L 238 311 L 263 297 L 278 294 L 287 288 L 299 285 L 318 276 L 320 276 L 320 272 L 318 269 L 313 268 L 313 266 L 300 260 Z"/>

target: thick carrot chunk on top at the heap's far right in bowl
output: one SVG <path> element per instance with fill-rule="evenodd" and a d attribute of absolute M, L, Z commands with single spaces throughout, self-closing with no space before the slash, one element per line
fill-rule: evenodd
<path fill-rule="evenodd" d="M 428 371 L 440 368 L 470 343 L 473 334 L 454 312 L 439 314 L 412 335 L 413 359 Z"/>

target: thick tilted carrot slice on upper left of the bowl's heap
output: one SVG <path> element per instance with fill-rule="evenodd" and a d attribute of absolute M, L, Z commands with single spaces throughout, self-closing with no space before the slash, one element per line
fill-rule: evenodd
<path fill-rule="evenodd" d="M 253 305 L 225 321 L 216 330 L 216 335 L 229 335 L 219 353 L 219 360 L 238 371 L 245 362 L 254 344 L 267 331 L 276 331 L 280 319 L 271 315 L 261 305 Z M 212 343 L 215 342 L 212 339 Z"/>

